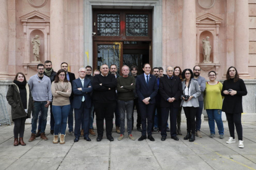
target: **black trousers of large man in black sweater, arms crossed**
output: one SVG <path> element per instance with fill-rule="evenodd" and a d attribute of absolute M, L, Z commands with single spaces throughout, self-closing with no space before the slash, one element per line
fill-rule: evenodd
<path fill-rule="evenodd" d="M 113 130 L 114 110 L 116 109 L 116 101 L 111 103 L 93 102 L 96 115 L 96 126 L 98 136 L 103 136 L 104 119 L 106 121 L 106 136 L 111 136 Z"/>

